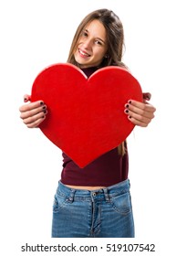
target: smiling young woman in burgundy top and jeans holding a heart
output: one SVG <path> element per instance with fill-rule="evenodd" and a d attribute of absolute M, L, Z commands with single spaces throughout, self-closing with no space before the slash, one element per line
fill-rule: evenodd
<path fill-rule="evenodd" d="M 67 62 L 82 69 L 88 77 L 106 66 L 125 68 L 121 61 L 123 45 L 119 17 L 108 9 L 99 9 L 88 14 L 78 26 Z M 124 112 L 131 123 L 146 127 L 154 117 L 155 108 L 148 102 L 150 93 L 144 93 L 143 98 L 143 102 L 129 99 Z M 24 101 L 30 101 L 30 96 L 25 95 Z M 19 110 L 29 128 L 37 127 L 47 118 L 47 105 L 43 101 L 29 102 Z M 52 237 L 133 238 L 126 142 L 84 168 L 79 168 L 64 152 L 62 155 Z"/>

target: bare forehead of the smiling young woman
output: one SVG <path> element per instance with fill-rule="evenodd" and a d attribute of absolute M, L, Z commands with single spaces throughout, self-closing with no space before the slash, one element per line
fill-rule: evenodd
<path fill-rule="evenodd" d="M 107 32 L 103 24 L 98 21 L 98 19 L 94 19 L 84 27 L 85 30 L 88 31 L 94 37 L 101 37 L 102 39 L 106 38 Z"/>

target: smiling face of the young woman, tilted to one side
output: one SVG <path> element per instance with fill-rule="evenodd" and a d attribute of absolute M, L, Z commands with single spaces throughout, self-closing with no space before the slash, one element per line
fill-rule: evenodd
<path fill-rule="evenodd" d="M 83 29 L 74 57 L 82 69 L 97 67 L 105 57 L 107 49 L 106 29 L 94 19 Z"/>

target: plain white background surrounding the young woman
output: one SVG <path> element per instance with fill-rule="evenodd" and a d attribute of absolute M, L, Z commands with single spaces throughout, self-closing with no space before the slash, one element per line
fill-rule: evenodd
<path fill-rule="evenodd" d="M 1 255 L 21 255 L 20 246 L 26 242 L 51 242 L 52 203 L 62 169 L 61 152 L 39 129 L 26 128 L 18 108 L 23 104 L 23 95 L 30 94 L 41 69 L 66 62 L 82 18 L 104 7 L 120 17 L 126 44 L 123 60 L 143 91 L 151 92 L 151 103 L 157 108 L 150 126 L 136 127 L 129 136 L 129 179 L 136 226 L 136 239 L 132 242 L 156 243 L 160 253 L 173 252 L 176 228 L 173 4 L 171 0 L 0 2 Z"/>

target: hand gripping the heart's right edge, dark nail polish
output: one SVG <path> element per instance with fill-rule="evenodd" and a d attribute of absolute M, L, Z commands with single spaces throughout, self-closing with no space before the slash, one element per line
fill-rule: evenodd
<path fill-rule="evenodd" d="M 129 100 L 125 104 L 125 113 L 128 115 L 129 121 L 141 127 L 147 127 L 154 118 L 156 111 L 148 101 L 150 101 L 150 93 L 143 93 L 143 102 Z"/>

